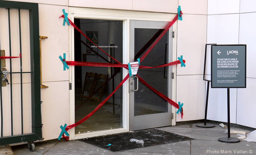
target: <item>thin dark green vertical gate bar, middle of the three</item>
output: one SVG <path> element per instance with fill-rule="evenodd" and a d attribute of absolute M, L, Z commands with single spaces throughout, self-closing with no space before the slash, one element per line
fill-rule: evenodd
<path fill-rule="evenodd" d="M 9 23 L 9 49 L 10 57 L 12 56 L 11 51 L 11 25 L 10 25 L 10 8 L 8 8 L 8 23 Z M 10 59 L 10 72 L 12 72 L 12 59 Z M 11 133 L 13 135 L 13 87 L 12 87 L 12 74 L 10 74 L 10 90 L 11 90 Z"/>

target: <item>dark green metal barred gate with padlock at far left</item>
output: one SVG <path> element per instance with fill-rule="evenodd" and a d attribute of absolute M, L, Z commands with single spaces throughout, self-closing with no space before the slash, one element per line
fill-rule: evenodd
<path fill-rule="evenodd" d="M 38 3 L 0 0 L 0 145 L 42 139 L 38 39 Z"/>

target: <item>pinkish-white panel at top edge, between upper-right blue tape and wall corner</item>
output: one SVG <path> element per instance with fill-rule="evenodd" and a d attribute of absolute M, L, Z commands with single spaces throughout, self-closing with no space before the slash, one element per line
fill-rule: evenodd
<path fill-rule="evenodd" d="M 179 0 L 179 5 L 183 14 L 206 14 L 207 15 L 207 1 L 206 0 Z"/>

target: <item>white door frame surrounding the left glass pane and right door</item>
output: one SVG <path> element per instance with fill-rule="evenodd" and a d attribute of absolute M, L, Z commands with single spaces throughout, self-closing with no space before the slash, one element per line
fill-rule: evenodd
<path fill-rule="evenodd" d="M 147 20 L 147 21 L 172 21 L 176 14 L 155 13 L 155 12 L 139 12 L 125 10 L 110 10 L 96 8 L 80 8 L 69 7 L 69 19 L 74 21 L 74 18 L 87 19 L 104 19 L 104 20 L 123 20 L 123 64 L 128 64 L 130 61 L 130 20 Z M 172 30 L 170 30 L 172 31 Z M 173 31 L 177 34 L 177 22 L 173 25 Z M 69 61 L 74 60 L 74 27 L 69 26 Z M 176 35 L 175 35 L 176 36 Z M 177 37 L 173 40 L 173 61 L 176 61 L 177 53 Z M 176 75 L 176 65 L 173 65 L 173 72 Z M 123 78 L 128 74 L 128 70 L 123 70 Z M 72 83 L 72 89 L 69 90 L 69 124 L 75 123 L 75 67 L 69 66 L 69 83 Z M 176 76 L 174 76 L 176 77 Z M 172 98 L 176 100 L 176 78 L 173 79 Z M 81 139 L 87 137 L 95 137 L 100 135 L 117 134 L 129 132 L 129 84 L 123 84 L 123 128 L 103 130 L 98 132 L 90 132 L 86 134 L 75 135 L 75 128 L 70 129 L 69 140 Z M 176 108 L 172 106 L 173 113 Z M 176 115 L 172 120 L 172 125 L 176 124 Z"/>

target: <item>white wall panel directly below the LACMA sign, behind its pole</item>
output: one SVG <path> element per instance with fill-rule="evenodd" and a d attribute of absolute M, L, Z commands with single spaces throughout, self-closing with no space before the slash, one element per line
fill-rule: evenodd
<path fill-rule="evenodd" d="M 205 98 L 207 83 L 205 87 Z M 228 122 L 227 88 L 209 88 L 207 119 Z M 230 123 L 236 123 L 236 88 L 230 88 Z"/>

